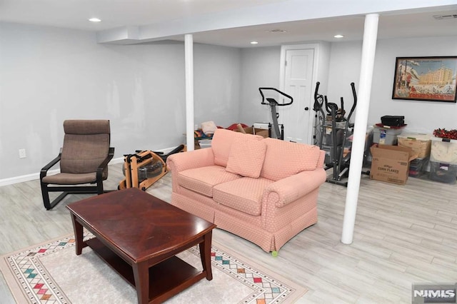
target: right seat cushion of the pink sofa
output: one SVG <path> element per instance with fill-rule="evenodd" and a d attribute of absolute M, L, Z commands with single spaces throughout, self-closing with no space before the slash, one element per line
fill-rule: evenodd
<path fill-rule="evenodd" d="M 213 199 L 216 203 L 251 216 L 260 216 L 263 191 L 271 183 L 273 181 L 266 178 L 247 177 L 219 183 L 219 185 L 214 186 Z"/>

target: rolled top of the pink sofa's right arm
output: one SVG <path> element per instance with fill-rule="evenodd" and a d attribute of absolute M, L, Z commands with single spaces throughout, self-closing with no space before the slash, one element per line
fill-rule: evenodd
<path fill-rule="evenodd" d="M 314 171 L 302 171 L 271 183 L 263 193 L 263 201 L 274 201 L 276 208 L 281 208 L 302 196 L 306 196 L 325 181 L 326 171 L 323 168 L 316 168 Z"/>

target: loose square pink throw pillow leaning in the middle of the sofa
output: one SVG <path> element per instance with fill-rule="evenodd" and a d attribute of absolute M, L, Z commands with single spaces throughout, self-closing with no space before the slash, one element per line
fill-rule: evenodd
<path fill-rule="evenodd" d="M 266 143 L 251 136 L 236 137 L 231 144 L 226 171 L 258 178 L 265 159 Z"/>

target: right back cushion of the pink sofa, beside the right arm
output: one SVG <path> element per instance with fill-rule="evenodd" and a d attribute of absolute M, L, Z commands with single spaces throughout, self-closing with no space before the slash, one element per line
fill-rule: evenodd
<path fill-rule="evenodd" d="M 313 171 L 321 154 L 318 146 L 265 138 L 265 161 L 260 176 L 278 181 L 301 171 Z"/>

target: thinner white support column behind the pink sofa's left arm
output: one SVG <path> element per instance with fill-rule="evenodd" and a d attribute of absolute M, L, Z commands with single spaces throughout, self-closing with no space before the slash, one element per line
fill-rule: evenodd
<path fill-rule="evenodd" d="M 194 150 L 194 36 L 184 36 L 184 58 L 186 65 L 186 145 L 187 151 Z"/>

